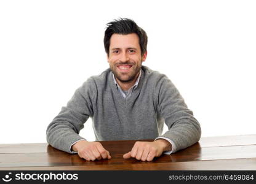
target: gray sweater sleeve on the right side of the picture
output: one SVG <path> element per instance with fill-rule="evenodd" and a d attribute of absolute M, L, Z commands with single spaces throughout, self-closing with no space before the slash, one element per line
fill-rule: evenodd
<path fill-rule="evenodd" d="M 201 137 L 200 125 L 177 88 L 165 75 L 157 82 L 155 94 L 158 99 L 158 113 L 169 129 L 161 137 L 167 137 L 174 142 L 175 150 L 172 153 L 198 142 Z"/>

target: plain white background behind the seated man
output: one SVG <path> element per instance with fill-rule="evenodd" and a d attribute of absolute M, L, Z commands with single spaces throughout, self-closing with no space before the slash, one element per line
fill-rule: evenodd
<path fill-rule="evenodd" d="M 144 65 L 166 74 L 202 136 L 255 134 L 255 1 L 0 1 L 0 143 L 46 142 L 47 125 L 108 67 L 106 23 L 148 34 Z M 165 129 L 166 130 L 166 129 Z M 80 132 L 94 140 L 89 120 Z"/>

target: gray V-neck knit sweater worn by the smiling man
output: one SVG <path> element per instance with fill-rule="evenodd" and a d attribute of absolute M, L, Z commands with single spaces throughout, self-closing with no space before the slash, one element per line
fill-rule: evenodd
<path fill-rule="evenodd" d="M 129 98 L 119 93 L 110 69 L 87 79 L 47 127 L 47 142 L 71 153 L 71 145 L 83 139 L 79 131 L 89 117 L 97 141 L 166 137 L 174 142 L 174 153 L 201 137 L 200 125 L 177 88 L 146 66 Z M 169 130 L 162 134 L 164 123 Z"/>

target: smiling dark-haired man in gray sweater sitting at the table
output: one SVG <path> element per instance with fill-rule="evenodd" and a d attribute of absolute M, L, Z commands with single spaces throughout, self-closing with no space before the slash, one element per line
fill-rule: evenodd
<path fill-rule="evenodd" d="M 100 142 L 79 136 L 92 117 L 96 140 L 140 140 L 124 158 L 152 161 L 198 142 L 201 128 L 178 90 L 159 72 L 142 66 L 147 36 L 133 20 L 108 23 L 104 46 L 110 68 L 90 77 L 47 128 L 47 142 L 87 161 L 110 159 Z M 161 61 L 157 61 L 161 62 Z M 169 130 L 162 136 L 164 123 Z"/>

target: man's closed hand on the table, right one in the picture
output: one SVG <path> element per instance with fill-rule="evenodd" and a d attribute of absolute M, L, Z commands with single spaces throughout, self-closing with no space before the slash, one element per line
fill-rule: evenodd
<path fill-rule="evenodd" d="M 165 139 L 158 139 L 154 142 L 135 142 L 134 147 L 124 154 L 124 159 L 133 157 L 142 161 L 152 161 L 154 157 L 162 155 L 163 151 L 172 149 L 172 145 Z"/>

